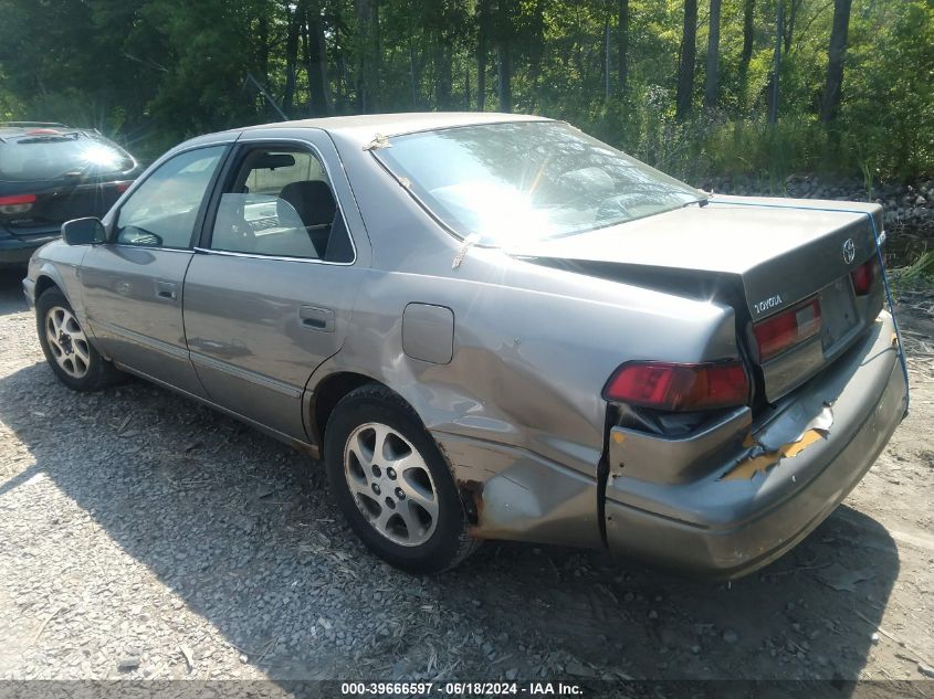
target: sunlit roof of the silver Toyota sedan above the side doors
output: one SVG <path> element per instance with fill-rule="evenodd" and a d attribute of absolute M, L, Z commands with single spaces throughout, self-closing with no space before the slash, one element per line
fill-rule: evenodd
<path fill-rule="evenodd" d="M 360 114 L 355 116 L 300 119 L 296 121 L 274 121 L 248 126 L 244 131 L 272 128 L 317 128 L 324 129 L 361 144 L 368 144 L 377 136 L 401 136 L 417 131 L 427 131 L 458 126 L 482 124 L 502 124 L 504 121 L 548 121 L 545 117 L 525 114 L 501 114 L 496 112 L 409 112 L 399 114 Z"/>

